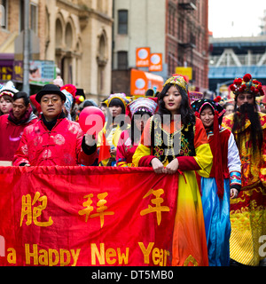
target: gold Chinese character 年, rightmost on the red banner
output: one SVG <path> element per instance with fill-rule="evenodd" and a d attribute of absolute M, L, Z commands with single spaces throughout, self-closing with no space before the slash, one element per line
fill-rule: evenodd
<path fill-rule="evenodd" d="M 153 190 L 151 189 L 148 193 L 145 194 L 144 198 L 148 197 L 149 195 L 153 194 L 155 196 L 155 198 L 153 198 L 151 200 L 151 202 L 155 205 L 155 206 L 151 206 L 148 205 L 147 209 L 144 209 L 142 211 L 140 211 L 140 215 L 144 216 L 146 214 L 149 213 L 153 213 L 156 212 L 156 217 L 157 217 L 157 224 L 160 225 L 160 221 L 161 221 L 161 212 L 168 212 L 170 209 L 168 208 L 168 206 L 160 206 L 160 204 L 164 201 L 160 195 L 164 193 L 164 190 L 162 188 L 157 189 L 157 190 Z"/>

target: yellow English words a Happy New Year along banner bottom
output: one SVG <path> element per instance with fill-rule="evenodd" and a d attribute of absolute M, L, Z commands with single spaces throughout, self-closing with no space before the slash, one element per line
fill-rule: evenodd
<path fill-rule="evenodd" d="M 154 242 L 149 242 L 147 246 L 143 242 L 138 242 L 143 259 L 143 264 L 153 264 L 166 266 L 169 251 L 163 248 L 154 247 Z M 81 248 L 39 248 L 37 244 L 25 244 L 25 264 L 27 265 L 46 265 L 46 266 L 66 266 L 77 265 Z M 106 248 L 105 243 L 90 244 L 91 265 L 127 265 L 129 264 L 129 248 Z M 7 249 L 7 261 L 16 264 L 16 250 Z"/>

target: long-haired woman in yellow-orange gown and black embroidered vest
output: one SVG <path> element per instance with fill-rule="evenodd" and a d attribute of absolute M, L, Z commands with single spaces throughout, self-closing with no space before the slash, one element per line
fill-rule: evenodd
<path fill-rule="evenodd" d="M 192 112 L 183 76 L 168 79 L 158 103 L 158 114 L 146 123 L 133 163 L 152 166 L 158 174 L 177 175 L 172 264 L 207 265 L 204 217 L 195 175 L 197 170 L 200 176 L 208 177 L 211 171 L 213 156 L 207 134 Z"/>

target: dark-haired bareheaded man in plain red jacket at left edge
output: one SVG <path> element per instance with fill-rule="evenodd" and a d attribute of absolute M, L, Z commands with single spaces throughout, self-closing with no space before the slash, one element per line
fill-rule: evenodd
<path fill-rule="evenodd" d="M 37 122 L 26 92 L 14 94 L 9 114 L 0 116 L 0 161 L 12 161 L 23 130 Z"/>

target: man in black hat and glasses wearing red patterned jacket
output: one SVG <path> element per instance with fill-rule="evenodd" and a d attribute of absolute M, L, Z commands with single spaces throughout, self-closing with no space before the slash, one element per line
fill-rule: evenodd
<path fill-rule="evenodd" d="M 43 86 L 35 97 L 42 117 L 28 126 L 13 159 L 14 166 L 90 166 L 97 159 L 91 135 L 82 132 L 77 122 L 63 112 L 65 94 L 53 84 Z"/>

